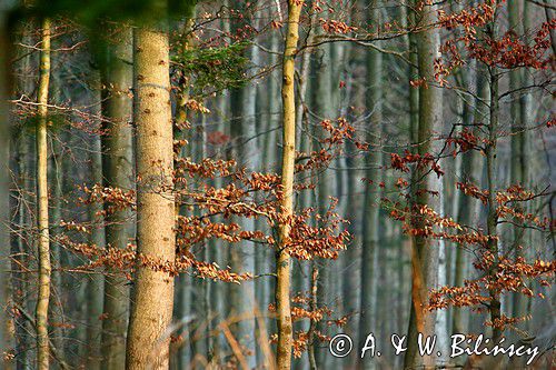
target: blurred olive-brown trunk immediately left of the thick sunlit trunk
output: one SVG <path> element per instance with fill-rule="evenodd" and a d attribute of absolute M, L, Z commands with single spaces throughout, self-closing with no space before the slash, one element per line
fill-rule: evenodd
<path fill-rule="evenodd" d="M 130 88 L 131 28 L 115 26 L 116 44 L 106 46 L 106 64 L 101 66 L 103 134 L 102 177 L 105 187 L 122 191 L 135 189 L 132 128 L 130 124 L 132 101 Z M 102 181 L 101 181 L 102 183 Z M 109 204 L 105 206 L 108 210 Z M 126 249 L 133 241 L 132 211 L 113 210 L 106 217 L 106 243 L 110 249 Z M 100 247 L 100 246 L 99 246 Z M 92 288 L 92 287 L 91 287 Z M 129 287 L 120 271 L 108 269 L 105 277 L 102 313 L 102 368 L 121 369 L 126 362 L 126 331 L 129 308 Z"/>

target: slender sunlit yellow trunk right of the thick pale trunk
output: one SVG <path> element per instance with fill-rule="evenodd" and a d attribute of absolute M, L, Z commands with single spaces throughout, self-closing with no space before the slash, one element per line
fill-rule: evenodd
<path fill-rule="evenodd" d="M 294 164 L 296 157 L 296 96 L 295 68 L 296 51 L 299 39 L 299 19 L 304 1 L 288 1 L 288 29 L 286 33 L 282 67 L 282 156 L 281 186 L 282 199 L 280 212 L 289 218 L 294 212 Z M 286 249 L 290 227 L 278 226 L 278 246 L 276 250 L 276 312 L 278 319 L 277 368 L 287 370 L 291 367 L 291 311 L 289 302 L 290 257 Z"/>

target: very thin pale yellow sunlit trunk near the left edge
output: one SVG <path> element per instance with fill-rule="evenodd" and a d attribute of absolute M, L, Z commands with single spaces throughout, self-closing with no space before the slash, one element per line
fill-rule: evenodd
<path fill-rule="evenodd" d="M 50 83 L 50 20 L 42 20 L 37 123 L 37 227 L 39 230 L 39 293 L 36 307 L 37 367 L 49 368 L 48 303 L 50 299 L 50 237 L 48 228 L 48 88 Z"/>

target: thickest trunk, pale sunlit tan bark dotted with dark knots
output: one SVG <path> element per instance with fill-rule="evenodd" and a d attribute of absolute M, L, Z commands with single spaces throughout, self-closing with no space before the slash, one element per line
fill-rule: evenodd
<path fill-rule="evenodd" d="M 137 28 L 133 36 L 137 124 L 137 252 L 173 263 L 175 198 L 167 26 Z M 153 299 L 156 298 L 156 299 Z M 138 264 L 131 300 L 126 368 L 168 369 L 173 277 Z"/>

